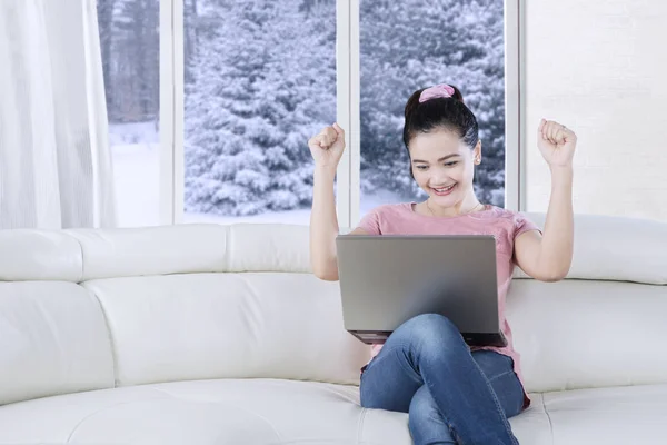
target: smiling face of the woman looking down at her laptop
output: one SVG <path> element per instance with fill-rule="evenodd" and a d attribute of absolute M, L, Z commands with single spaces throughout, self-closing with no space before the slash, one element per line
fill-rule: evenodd
<path fill-rule="evenodd" d="M 415 180 L 431 201 L 442 207 L 460 202 L 472 191 L 475 159 L 481 156 L 481 142 L 471 150 L 452 131 L 419 134 L 410 141 Z"/>

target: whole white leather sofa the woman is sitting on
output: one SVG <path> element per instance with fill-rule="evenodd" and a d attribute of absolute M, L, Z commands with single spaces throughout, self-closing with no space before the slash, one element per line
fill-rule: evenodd
<path fill-rule="evenodd" d="M 411 443 L 359 406 L 307 227 L 6 230 L 0 280 L 0 444 Z M 517 269 L 521 444 L 667 443 L 666 284 L 667 225 L 626 218 L 577 216 L 564 281 Z"/>

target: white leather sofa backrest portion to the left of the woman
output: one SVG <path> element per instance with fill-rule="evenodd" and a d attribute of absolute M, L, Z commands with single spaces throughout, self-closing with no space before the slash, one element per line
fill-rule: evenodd
<path fill-rule="evenodd" d="M 11 253 L 0 258 L 0 280 L 10 281 L 0 283 L 0 320 L 11 314 L 0 324 L 0 345 L 14 344 L 13 352 L 0 349 L 0 377 L 12 383 L 0 387 L 0 404 L 21 394 L 185 379 L 358 383 L 369 347 L 345 332 L 338 285 L 310 274 L 307 231 L 289 225 L 0 231 L 0 251 Z M 42 291 L 51 306 L 34 309 L 17 286 Z M 61 314 L 60 305 L 71 309 Z M 66 328 L 68 343 L 60 339 Z M 29 372 L 34 363 L 44 365 L 39 375 Z"/>

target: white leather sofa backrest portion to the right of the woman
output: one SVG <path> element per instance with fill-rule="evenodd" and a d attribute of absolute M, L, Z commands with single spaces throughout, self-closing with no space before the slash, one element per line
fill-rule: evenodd
<path fill-rule="evenodd" d="M 667 383 L 667 224 L 578 215 L 566 280 L 515 277 L 507 317 L 529 390 Z"/>

